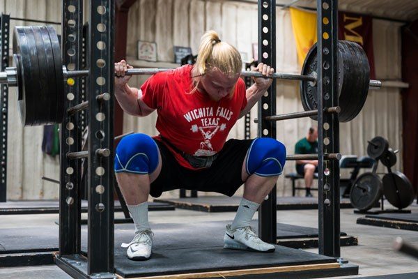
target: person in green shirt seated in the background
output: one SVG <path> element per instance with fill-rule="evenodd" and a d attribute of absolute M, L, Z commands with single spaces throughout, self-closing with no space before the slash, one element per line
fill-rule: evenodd
<path fill-rule="evenodd" d="M 295 154 L 318 153 L 318 130 L 315 127 L 309 128 L 307 137 L 296 143 Z M 296 172 L 304 176 L 306 197 L 312 197 L 311 186 L 314 181 L 314 173 L 318 172 L 318 160 L 297 160 Z"/>

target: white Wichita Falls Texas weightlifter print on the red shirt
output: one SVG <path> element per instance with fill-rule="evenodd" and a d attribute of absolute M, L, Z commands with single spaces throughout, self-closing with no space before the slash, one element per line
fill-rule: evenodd
<path fill-rule="evenodd" d="M 199 149 L 194 152 L 194 156 L 212 156 L 216 153 L 213 151 L 210 140 L 219 130 L 223 131 L 226 129 L 224 121 L 229 121 L 232 114 L 231 110 L 224 107 L 215 109 L 214 107 L 199 107 L 183 114 L 188 123 L 193 122 L 190 130 L 193 133 L 201 133 L 202 135 Z"/>

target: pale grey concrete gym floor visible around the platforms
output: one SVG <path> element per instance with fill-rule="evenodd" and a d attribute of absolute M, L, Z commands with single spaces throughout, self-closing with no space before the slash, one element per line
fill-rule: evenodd
<path fill-rule="evenodd" d="M 391 206 L 385 203 L 385 208 Z M 418 213 L 416 201 L 409 207 L 414 213 Z M 176 209 L 176 211 L 151 211 L 151 227 L 155 223 L 192 223 L 193 220 L 216 221 L 232 220 L 235 213 L 204 213 L 199 211 L 189 211 Z M 83 214 L 86 218 L 86 214 Z M 116 213 L 115 218 L 122 218 L 122 213 Z M 392 250 L 392 243 L 396 236 L 401 236 L 415 246 L 418 246 L 417 232 L 401 229 L 390 229 L 383 227 L 373 227 L 368 225 L 357 225 L 357 218 L 362 217 L 353 213 L 353 209 L 341 209 L 341 231 L 348 235 L 357 236 L 358 246 L 341 247 L 343 259 L 347 259 L 350 264 L 359 266 L 359 276 L 376 276 L 396 273 L 412 273 L 418 271 L 417 260 L 399 254 Z M 19 227 L 49 227 L 56 226 L 54 222 L 58 220 L 58 214 L 42 215 L 20 215 L 20 216 L 0 216 L 0 237 L 1 229 Z M 277 222 L 291 225 L 303 225 L 307 227 L 318 227 L 318 211 L 316 210 L 295 210 L 277 211 Z M 133 230 L 132 230 L 133 233 Z M 31 239 L 22 239 L 31 241 Z M 115 243 L 115 246 L 121 243 Z M 307 249 L 310 252 L 317 252 L 317 249 Z M 152 259 L 151 259 L 152 260 Z M 356 277 L 356 276 L 354 276 Z M 353 276 L 339 278 L 354 278 Z M 64 271 L 57 266 L 29 266 L 20 268 L 0 269 L 0 278 L 70 278 Z"/>

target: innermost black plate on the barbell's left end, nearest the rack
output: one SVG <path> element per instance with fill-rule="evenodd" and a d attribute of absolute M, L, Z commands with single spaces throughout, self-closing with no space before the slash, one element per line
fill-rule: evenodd
<path fill-rule="evenodd" d="M 52 45 L 52 54 L 54 55 L 54 68 L 56 79 L 56 119 L 55 123 L 61 123 L 64 118 L 64 76 L 63 61 L 61 59 L 61 47 L 59 45 L 58 36 L 53 27 L 47 27 L 49 39 Z"/>

